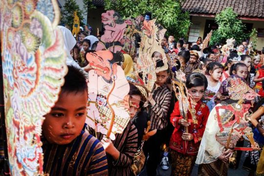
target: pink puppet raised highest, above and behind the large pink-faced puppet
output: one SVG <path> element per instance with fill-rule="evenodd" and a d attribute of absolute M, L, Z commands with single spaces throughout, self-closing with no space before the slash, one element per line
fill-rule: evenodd
<path fill-rule="evenodd" d="M 105 27 L 105 33 L 101 37 L 101 42 L 97 44 L 96 51 L 110 50 L 112 52 L 122 49 L 121 39 L 124 36 L 127 23 L 114 10 L 108 10 L 102 13 L 102 23 Z"/>

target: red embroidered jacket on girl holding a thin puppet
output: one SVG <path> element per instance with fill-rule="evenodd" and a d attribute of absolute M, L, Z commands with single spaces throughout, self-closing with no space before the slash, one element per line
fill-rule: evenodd
<path fill-rule="evenodd" d="M 188 122 L 191 122 L 191 125 L 188 127 L 188 132 L 193 134 L 194 139 L 191 141 L 183 140 L 181 138 L 182 133 L 184 132 L 184 126 L 178 124 L 179 120 L 183 117 L 180 115 L 179 111 L 179 102 L 176 102 L 174 110 L 171 114 L 171 123 L 175 127 L 174 132 L 170 141 L 170 148 L 176 150 L 181 154 L 187 155 L 197 155 L 199 150 L 200 141 L 205 130 L 206 122 L 209 116 L 209 108 L 206 104 L 199 101 L 195 107 L 196 118 L 198 124 L 192 123 L 192 115 L 187 112 Z"/>

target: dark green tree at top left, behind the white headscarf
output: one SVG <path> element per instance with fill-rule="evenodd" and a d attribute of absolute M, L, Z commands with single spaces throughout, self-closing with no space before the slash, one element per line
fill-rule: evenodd
<path fill-rule="evenodd" d="M 84 11 L 79 7 L 75 0 L 66 0 L 61 11 L 61 23 L 68 25 L 72 29 L 74 15 L 73 12 L 77 11 L 77 15 L 80 20 L 80 26 L 83 25 Z"/>

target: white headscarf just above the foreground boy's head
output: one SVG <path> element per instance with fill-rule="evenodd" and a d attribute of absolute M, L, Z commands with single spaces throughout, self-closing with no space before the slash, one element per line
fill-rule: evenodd
<path fill-rule="evenodd" d="M 63 37 L 64 37 L 64 49 L 66 51 L 67 54 L 67 58 L 66 58 L 66 64 L 72 65 L 72 66 L 77 66 L 80 67 L 76 62 L 74 62 L 73 58 L 70 55 L 70 50 L 72 50 L 72 48 L 75 46 L 76 44 L 76 40 L 75 38 L 72 36 L 71 32 L 69 29 L 67 29 L 64 26 L 58 26 L 62 33 L 63 33 Z"/>

